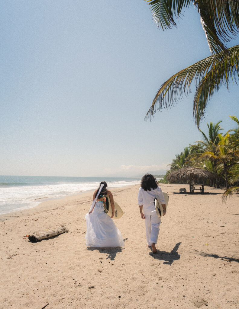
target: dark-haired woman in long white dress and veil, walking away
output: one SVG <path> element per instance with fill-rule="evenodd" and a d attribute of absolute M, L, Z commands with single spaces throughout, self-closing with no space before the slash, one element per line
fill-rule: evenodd
<path fill-rule="evenodd" d="M 111 201 L 111 218 L 104 212 L 103 195 L 108 195 Z M 105 181 L 93 194 L 93 202 L 86 219 L 86 243 L 87 247 L 124 247 L 124 240 L 120 230 L 112 220 L 115 213 L 114 198 L 111 191 L 107 190 Z"/>

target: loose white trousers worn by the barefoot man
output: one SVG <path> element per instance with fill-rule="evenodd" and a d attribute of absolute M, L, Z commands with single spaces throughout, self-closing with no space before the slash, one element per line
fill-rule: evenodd
<path fill-rule="evenodd" d="M 145 215 L 146 240 L 149 246 L 157 243 L 161 219 L 155 214 Z"/>

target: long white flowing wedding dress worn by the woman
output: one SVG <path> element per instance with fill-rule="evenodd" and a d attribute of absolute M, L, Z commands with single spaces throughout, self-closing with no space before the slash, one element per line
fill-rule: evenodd
<path fill-rule="evenodd" d="M 87 247 L 124 247 L 124 240 L 114 221 L 104 212 L 103 203 L 96 202 L 93 212 L 85 215 Z"/>

